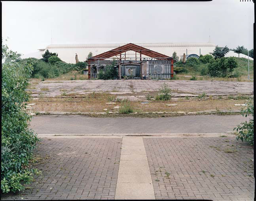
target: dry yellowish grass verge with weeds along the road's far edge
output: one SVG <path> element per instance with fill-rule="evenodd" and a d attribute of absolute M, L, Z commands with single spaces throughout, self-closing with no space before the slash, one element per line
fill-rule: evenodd
<path fill-rule="evenodd" d="M 179 98 L 170 101 L 148 101 L 148 104 L 142 104 L 141 101 L 115 102 L 115 104 L 106 104 L 114 102 L 116 96 L 106 93 L 95 93 L 83 95 L 81 97 L 54 97 L 31 100 L 29 103 L 33 105 L 34 112 L 121 112 L 129 114 L 132 112 L 199 112 L 203 110 L 239 110 L 243 106 L 235 106 L 235 104 L 245 104 L 250 97 L 244 96 L 243 99 L 235 96 L 220 98 Z M 167 104 L 176 104 L 168 106 Z M 119 106 L 114 108 L 115 106 Z"/>

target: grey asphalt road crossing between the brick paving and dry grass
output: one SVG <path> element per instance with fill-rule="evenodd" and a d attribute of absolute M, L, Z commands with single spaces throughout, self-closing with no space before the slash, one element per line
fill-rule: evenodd
<path fill-rule="evenodd" d="M 187 115 L 161 118 L 94 118 L 83 115 L 34 116 L 30 128 L 40 134 L 167 134 L 233 131 L 242 115 Z"/>

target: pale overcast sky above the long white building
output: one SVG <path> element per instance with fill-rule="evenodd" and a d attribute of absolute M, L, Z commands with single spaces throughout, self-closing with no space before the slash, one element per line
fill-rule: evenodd
<path fill-rule="evenodd" d="M 49 44 L 206 43 L 253 48 L 252 1 L 2 2 L 2 37 L 22 54 Z"/>

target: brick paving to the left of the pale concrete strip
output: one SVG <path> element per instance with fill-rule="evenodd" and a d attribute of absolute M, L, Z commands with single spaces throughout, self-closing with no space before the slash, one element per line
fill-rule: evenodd
<path fill-rule="evenodd" d="M 42 138 L 42 176 L 12 199 L 114 199 L 121 138 Z M 10 199 L 10 197 L 2 197 Z"/>

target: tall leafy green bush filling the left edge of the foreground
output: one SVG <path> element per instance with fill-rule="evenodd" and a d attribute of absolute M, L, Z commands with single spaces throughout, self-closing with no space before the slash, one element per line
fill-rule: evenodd
<path fill-rule="evenodd" d="M 1 190 L 3 193 L 24 189 L 32 181 L 37 169 L 29 169 L 28 162 L 38 138 L 28 128 L 31 119 L 25 112 L 24 102 L 29 100 L 25 89 L 32 73 L 32 64 L 15 62 L 15 52 L 2 45 L 2 142 Z M 4 63 L 3 63 L 4 61 Z"/>

